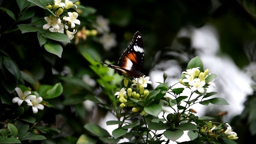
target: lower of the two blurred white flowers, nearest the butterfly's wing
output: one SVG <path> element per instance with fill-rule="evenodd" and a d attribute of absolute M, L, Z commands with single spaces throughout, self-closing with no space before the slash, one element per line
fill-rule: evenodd
<path fill-rule="evenodd" d="M 99 38 L 100 43 L 103 45 L 105 50 L 110 50 L 110 48 L 117 45 L 116 35 L 111 33 L 104 33 L 102 37 Z"/>

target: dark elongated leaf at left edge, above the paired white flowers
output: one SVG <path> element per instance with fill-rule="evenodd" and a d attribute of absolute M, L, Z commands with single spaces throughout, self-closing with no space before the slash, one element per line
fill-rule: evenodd
<path fill-rule="evenodd" d="M 16 62 L 14 62 L 9 57 L 3 56 L 3 58 L 4 58 L 4 66 L 7 68 L 7 70 L 9 70 L 9 72 L 15 76 L 16 80 L 20 80 L 21 73 L 20 73 L 20 69 L 19 69 L 18 65 L 16 64 Z"/>

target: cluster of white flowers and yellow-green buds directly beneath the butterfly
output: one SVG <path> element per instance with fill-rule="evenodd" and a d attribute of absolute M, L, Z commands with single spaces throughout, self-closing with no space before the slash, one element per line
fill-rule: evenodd
<path fill-rule="evenodd" d="M 135 100 L 146 100 L 149 91 L 144 88 L 146 88 L 148 84 L 152 84 L 152 82 L 149 79 L 149 76 L 135 78 L 131 81 L 130 86 L 128 86 L 129 80 L 125 78 L 124 88 L 121 88 L 119 92 L 116 92 L 114 94 L 115 96 L 119 97 L 119 101 L 121 102 L 120 107 L 124 108 L 126 106 L 129 106 L 133 107 L 132 112 L 140 111 L 140 108 L 136 105 L 132 98 Z"/>

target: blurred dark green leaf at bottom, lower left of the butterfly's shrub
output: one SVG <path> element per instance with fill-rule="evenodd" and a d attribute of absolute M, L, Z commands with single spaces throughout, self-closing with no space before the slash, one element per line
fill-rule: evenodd
<path fill-rule="evenodd" d="M 105 129 L 101 128 L 97 124 L 89 124 L 88 123 L 88 124 L 84 125 L 84 128 L 86 130 L 88 130 L 89 132 L 91 132 L 93 135 L 96 135 L 96 136 L 110 136 L 108 131 L 106 131 Z"/>

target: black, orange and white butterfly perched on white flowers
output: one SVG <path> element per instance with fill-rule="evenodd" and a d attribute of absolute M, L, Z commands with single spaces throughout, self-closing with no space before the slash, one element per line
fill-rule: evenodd
<path fill-rule="evenodd" d="M 132 42 L 128 48 L 123 52 L 118 60 L 117 66 L 101 62 L 106 64 L 109 68 L 116 70 L 120 76 L 128 78 L 139 78 L 144 76 L 140 72 L 144 62 L 144 46 L 140 32 L 136 32 L 132 38 Z"/>

